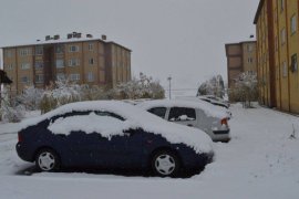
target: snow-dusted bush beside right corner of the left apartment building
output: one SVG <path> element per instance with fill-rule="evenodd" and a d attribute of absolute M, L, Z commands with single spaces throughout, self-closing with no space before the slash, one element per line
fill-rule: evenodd
<path fill-rule="evenodd" d="M 133 77 L 132 81 L 121 83 L 110 91 L 110 96 L 118 100 L 136 100 L 136 98 L 164 98 L 165 91 L 158 81 L 153 81 L 150 76 L 140 73 L 140 77 Z"/>

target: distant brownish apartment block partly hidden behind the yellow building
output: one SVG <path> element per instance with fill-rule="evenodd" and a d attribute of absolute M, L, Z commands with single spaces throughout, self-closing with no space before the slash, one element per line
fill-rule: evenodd
<path fill-rule="evenodd" d="M 225 45 L 227 57 L 228 88 L 234 86 L 236 78 L 243 72 L 257 72 L 256 41 L 228 43 Z"/>

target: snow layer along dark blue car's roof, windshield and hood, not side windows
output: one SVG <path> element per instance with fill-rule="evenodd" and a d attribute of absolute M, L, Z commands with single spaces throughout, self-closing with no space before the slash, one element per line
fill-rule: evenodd
<path fill-rule="evenodd" d="M 203 130 L 168 123 L 143 111 L 142 108 L 120 101 L 90 101 L 66 104 L 44 115 L 41 115 L 40 117 L 23 121 L 21 123 L 21 127 L 25 128 L 44 119 L 50 119 L 55 115 L 63 115 L 73 111 L 111 112 L 126 119 L 126 129 L 141 127 L 146 132 L 162 135 L 172 144 L 183 143 L 192 147 L 198 154 L 212 151 L 212 139 Z M 72 126 L 72 124 L 70 124 L 70 126 Z M 122 133 L 123 129 L 120 129 L 118 134 L 122 135 Z M 115 135 L 115 132 L 113 132 L 113 135 Z"/>

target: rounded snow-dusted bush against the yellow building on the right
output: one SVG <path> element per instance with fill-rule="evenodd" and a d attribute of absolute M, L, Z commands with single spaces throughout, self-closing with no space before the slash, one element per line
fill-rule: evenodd
<path fill-rule="evenodd" d="M 236 80 L 229 92 L 230 101 L 243 102 L 244 107 L 251 107 L 251 102 L 258 100 L 258 81 L 254 72 L 244 72 Z"/>

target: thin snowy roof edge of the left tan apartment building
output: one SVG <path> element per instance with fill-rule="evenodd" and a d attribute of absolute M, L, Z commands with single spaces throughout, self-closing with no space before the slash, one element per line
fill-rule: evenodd
<path fill-rule="evenodd" d="M 58 43 L 75 43 L 75 42 L 85 42 L 85 41 L 101 41 L 103 43 L 107 43 L 107 44 L 115 44 L 115 45 L 118 45 L 123 49 L 126 49 L 127 51 L 132 52 L 132 50 L 118 44 L 118 43 L 115 43 L 113 41 L 110 41 L 110 42 L 106 42 L 102 39 L 99 39 L 99 38 L 72 38 L 72 39 L 66 39 L 66 38 L 63 38 L 63 39 L 58 39 L 58 40 L 43 40 L 43 41 L 35 41 L 35 42 L 31 42 L 31 43 L 22 43 L 22 44 L 14 44 L 14 45 L 8 45 L 8 46 L 1 46 L 1 49 L 9 49 L 9 48 L 19 48 L 19 46 L 31 46 L 31 45 L 44 45 L 44 44 L 58 44 Z"/>

